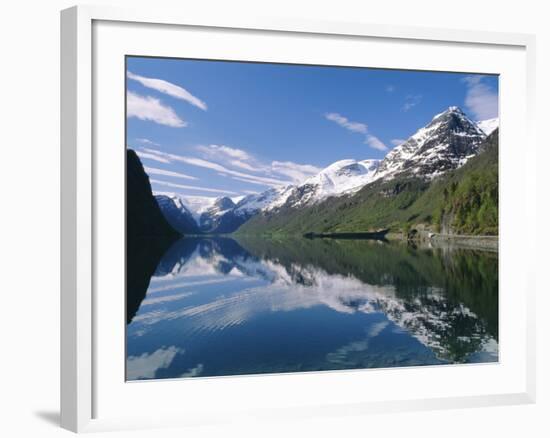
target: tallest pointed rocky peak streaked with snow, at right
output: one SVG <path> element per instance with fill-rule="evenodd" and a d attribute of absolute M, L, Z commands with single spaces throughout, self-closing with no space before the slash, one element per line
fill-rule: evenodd
<path fill-rule="evenodd" d="M 432 179 L 476 155 L 486 137 L 460 108 L 451 106 L 389 152 L 374 179 L 397 175 Z"/>

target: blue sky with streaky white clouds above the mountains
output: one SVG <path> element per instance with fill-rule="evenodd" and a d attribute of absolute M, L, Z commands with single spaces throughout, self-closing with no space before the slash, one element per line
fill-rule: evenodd
<path fill-rule="evenodd" d="M 127 58 L 127 145 L 155 192 L 236 197 L 383 158 L 449 106 L 498 115 L 498 78 Z"/>

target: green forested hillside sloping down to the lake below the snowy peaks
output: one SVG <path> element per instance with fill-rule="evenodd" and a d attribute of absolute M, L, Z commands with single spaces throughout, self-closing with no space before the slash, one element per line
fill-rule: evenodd
<path fill-rule="evenodd" d="M 498 234 L 498 130 L 487 138 L 478 156 L 432 182 L 376 181 L 351 197 L 260 213 L 238 233 L 403 231 L 419 224 L 444 233 Z"/>

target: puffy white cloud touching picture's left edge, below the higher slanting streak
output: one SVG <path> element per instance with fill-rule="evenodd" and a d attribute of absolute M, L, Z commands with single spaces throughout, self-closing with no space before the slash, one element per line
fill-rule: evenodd
<path fill-rule="evenodd" d="M 131 91 L 126 93 L 126 115 L 173 128 L 187 126 L 187 123 L 180 119 L 171 107 L 164 105 L 159 99 L 140 96 Z"/>

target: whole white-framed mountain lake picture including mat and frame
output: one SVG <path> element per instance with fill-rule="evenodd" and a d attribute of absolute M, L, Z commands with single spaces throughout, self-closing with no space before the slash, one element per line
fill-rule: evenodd
<path fill-rule="evenodd" d="M 63 427 L 534 401 L 532 36 L 74 7 L 61 49 Z"/>

